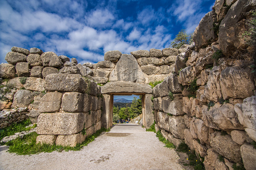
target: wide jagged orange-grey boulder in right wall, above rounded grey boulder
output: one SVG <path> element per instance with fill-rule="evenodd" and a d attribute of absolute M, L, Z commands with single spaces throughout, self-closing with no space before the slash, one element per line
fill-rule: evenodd
<path fill-rule="evenodd" d="M 234 105 L 230 103 L 216 103 L 207 111 L 203 109 L 203 121 L 207 127 L 218 130 L 244 130 L 239 123 L 237 113 L 234 110 Z"/>

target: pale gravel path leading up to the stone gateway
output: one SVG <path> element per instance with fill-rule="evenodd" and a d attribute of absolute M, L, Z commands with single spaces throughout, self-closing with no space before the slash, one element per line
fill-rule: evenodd
<path fill-rule="evenodd" d="M 16 155 L 0 146 L 0 169 L 10 170 L 180 170 L 174 149 L 135 124 L 116 125 L 81 151 Z"/>

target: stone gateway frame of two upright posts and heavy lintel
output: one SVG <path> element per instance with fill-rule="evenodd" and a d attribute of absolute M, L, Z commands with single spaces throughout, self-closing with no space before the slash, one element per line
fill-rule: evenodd
<path fill-rule="evenodd" d="M 148 84 L 129 81 L 108 82 L 101 88 L 103 95 L 101 127 L 112 127 L 113 124 L 113 96 L 114 95 L 142 95 L 142 121 L 146 128 L 154 123 L 152 106 L 152 89 Z"/>

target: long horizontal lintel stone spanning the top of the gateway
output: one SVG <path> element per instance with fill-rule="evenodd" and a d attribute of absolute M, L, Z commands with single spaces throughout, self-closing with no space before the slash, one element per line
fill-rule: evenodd
<path fill-rule="evenodd" d="M 108 93 L 146 93 L 152 94 L 151 86 L 148 84 L 133 83 L 133 82 L 108 82 L 101 87 L 101 94 Z"/>

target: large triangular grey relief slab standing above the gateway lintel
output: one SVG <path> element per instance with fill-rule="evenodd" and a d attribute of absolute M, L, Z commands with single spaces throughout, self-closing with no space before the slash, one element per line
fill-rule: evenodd
<path fill-rule="evenodd" d="M 110 73 L 109 81 L 144 83 L 145 77 L 133 55 L 122 54 L 120 60 L 116 63 L 115 69 Z"/>

